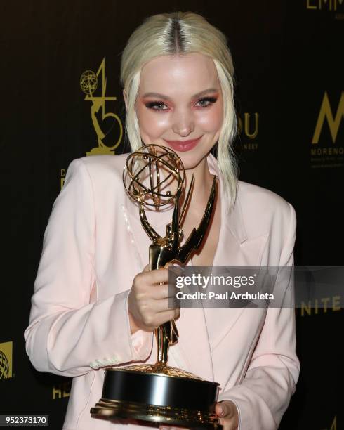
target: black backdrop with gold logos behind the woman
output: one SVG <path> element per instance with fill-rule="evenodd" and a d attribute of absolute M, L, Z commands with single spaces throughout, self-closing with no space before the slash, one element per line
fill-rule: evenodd
<path fill-rule="evenodd" d="M 70 379 L 36 372 L 25 353 L 42 238 L 72 159 L 98 148 L 80 77 L 107 79 L 107 146 L 127 152 L 119 62 L 143 18 L 204 15 L 228 37 L 242 124 L 240 178 L 282 195 L 298 218 L 295 263 L 343 265 L 344 2 L 1 1 L 1 185 L 4 200 L 0 414 L 50 415 L 62 427 Z M 99 88 L 101 96 L 101 74 Z M 100 92 L 99 92 L 100 91 Z M 315 133 L 315 132 L 318 133 Z M 106 148 L 105 148 L 106 150 Z M 343 309 L 296 310 L 302 370 L 282 429 L 342 429 Z M 244 430 L 244 429 L 243 429 Z"/>

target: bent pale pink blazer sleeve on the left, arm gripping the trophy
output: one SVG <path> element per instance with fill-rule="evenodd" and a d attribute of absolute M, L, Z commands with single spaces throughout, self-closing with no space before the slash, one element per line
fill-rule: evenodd
<path fill-rule="evenodd" d="M 131 336 L 130 289 L 90 303 L 96 234 L 91 177 L 82 159 L 74 159 L 44 233 L 24 332 L 27 355 L 41 372 L 75 377 L 150 353 L 151 333 Z"/>

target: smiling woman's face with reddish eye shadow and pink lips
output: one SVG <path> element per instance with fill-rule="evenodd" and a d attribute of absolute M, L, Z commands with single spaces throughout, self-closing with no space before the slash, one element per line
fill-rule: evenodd
<path fill-rule="evenodd" d="M 192 169 L 218 141 L 223 100 L 212 58 L 161 56 L 141 71 L 135 103 L 143 142 L 167 146 Z M 199 139 L 196 142 L 190 142 Z"/>

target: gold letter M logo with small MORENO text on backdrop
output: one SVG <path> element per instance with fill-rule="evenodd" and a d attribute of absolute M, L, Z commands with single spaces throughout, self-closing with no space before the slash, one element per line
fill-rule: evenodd
<path fill-rule="evenodd" d="M 311 141 L 312 167 L 344 166 L 344 147 L 338 145 L 337 142 L 343 117 L 344 92 L 340 93 L 338 106 L 334 109 L 333 103 L 331 107 L 329 95 L 325 91 Z"/>

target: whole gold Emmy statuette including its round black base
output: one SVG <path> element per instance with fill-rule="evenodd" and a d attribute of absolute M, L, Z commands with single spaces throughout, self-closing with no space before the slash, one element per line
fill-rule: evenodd
<path fill-rule="evenodd" d="M 165 267 L 171 261 L 185 263 L 192 250 L 200 247 L 209 226 L 216 199 L 216 177 L 201 222 L 198 228 L 193 228 L 183 246 L 180 245 L 183 240 L 180 226 L 194 176 L 180 214 L 179 199 L 184 190 L 185 171 L 176 152 L 160 145 L 143 145 L 126 159 L 123 181 L 128 195 L 138 202 L 142 226 L 152 240 L 150 270 Z M 176 188 L 174 193 L 170 190 L 171 185 Z M 172 221 L 166 226 L 166 235 L 161 237 L 150 226 L 144 207 L 154 206 L 158 210 L 171 202 L 174 202 Z M 102 398 L 91 408 L 91 417 L 151 426 L 166 424 L 189 429 L 221 429 L 215 414 L 220 384 L 167 364 L 168 348 L 178 341 L 175 321 L 155 329 L 155 337 L 157 361 L 154 365 L 107 367 Z"/>

